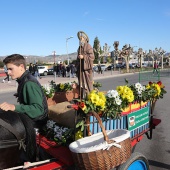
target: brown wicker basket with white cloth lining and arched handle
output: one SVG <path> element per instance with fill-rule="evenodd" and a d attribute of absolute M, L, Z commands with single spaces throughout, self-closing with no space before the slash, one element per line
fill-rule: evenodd
<path fill-rule="evenodd" d="M 79 139 L 69 148 L 78 169 L 112 169 L 131 156 L 130 132 L 124 129 L 106 131 L 97 113 L 102 132 Z"/>

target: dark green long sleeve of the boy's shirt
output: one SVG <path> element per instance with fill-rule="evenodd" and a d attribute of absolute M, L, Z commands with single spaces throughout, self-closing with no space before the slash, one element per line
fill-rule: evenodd
<path fill-rule="evenodd" d="M 15 105 L 15 111 L 35 118 L 44 113 L 42 90 L 35 82 L 28 81 L 23 87 L 23 104 Z"/>

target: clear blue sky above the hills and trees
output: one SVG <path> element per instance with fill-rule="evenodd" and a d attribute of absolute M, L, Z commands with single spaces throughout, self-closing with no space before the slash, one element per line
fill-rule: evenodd
<path fill-rule="evenodd" d="M 131 44 L 143 50 L 170 51 L 169 0 L 0 0 L 0 56 L 57 55 L 77 51 L 78 31 L 88 34 L 93 46 L 113 50 Z"/>

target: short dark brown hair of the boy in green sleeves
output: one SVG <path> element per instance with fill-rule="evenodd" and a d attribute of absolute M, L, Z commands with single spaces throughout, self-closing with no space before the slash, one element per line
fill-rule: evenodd
<path fill-rule="evenodd" d="M 24 68 L 26 69 L 26 61 L 25 61 L 25 58 L 20 55 L 20 54 L 12 54 L 8 57 L 6 57 L 4 60 L 3 60 L 3 63 L 6 65 L 8 63 L 12 63 L 16 66 L 20 66 L 21 64 L 24 65 Z"/>

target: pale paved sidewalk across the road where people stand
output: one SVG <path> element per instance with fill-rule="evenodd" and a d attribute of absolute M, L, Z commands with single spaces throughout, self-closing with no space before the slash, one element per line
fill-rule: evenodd
<path fill-rule="evenodd" d="M 128 74 L 134 74 L 134 73 L 128 73 Z M 16 91 L 17 90 L 17 82 L 15 80 L 12 80 L 11 83 L 3 83 L 2 80 L 5 75 L 0 76 L 0 93 L 10 92 L 10 91 Z M 124 76 L 124 74 L 120 73 L 119 71 L 105 71 L 103 74 L 94 73 L 93 78 L 94 81 L 97 79 L 104 79 L 108 77 L 117 77 L 117 76 Z M 66 83 L 66 82 L 73 82 L 77 81 L 77 78 L 65 78 L 65 77 L 55 77 L 52 75 L 48 76 L 42 76 L 42 79 L 39 79 L 39 82 L 41 85 L 49 84 L 49 82 L 53 80 L 56 83 Z"/>

